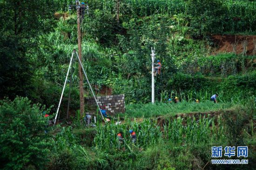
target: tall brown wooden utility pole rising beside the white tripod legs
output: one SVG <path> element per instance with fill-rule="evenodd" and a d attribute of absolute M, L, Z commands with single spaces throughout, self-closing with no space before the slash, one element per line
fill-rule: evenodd
<path fill-rule="evenodd" d="M 79 0 L 75 1 L 76 5 L 80 5 Z M 77 39 L 78 39 L 78 56 L 82 62 L 82 46 L 81 46 L 81 29 L 80 29 L 80 6 L 76 7 L 77 11 Z M 79 91 L 80 91 L 80 118 L 84 115 L 84 89 L 83 89 L 83 74 L 82 67 L 79 65 Z"/>

